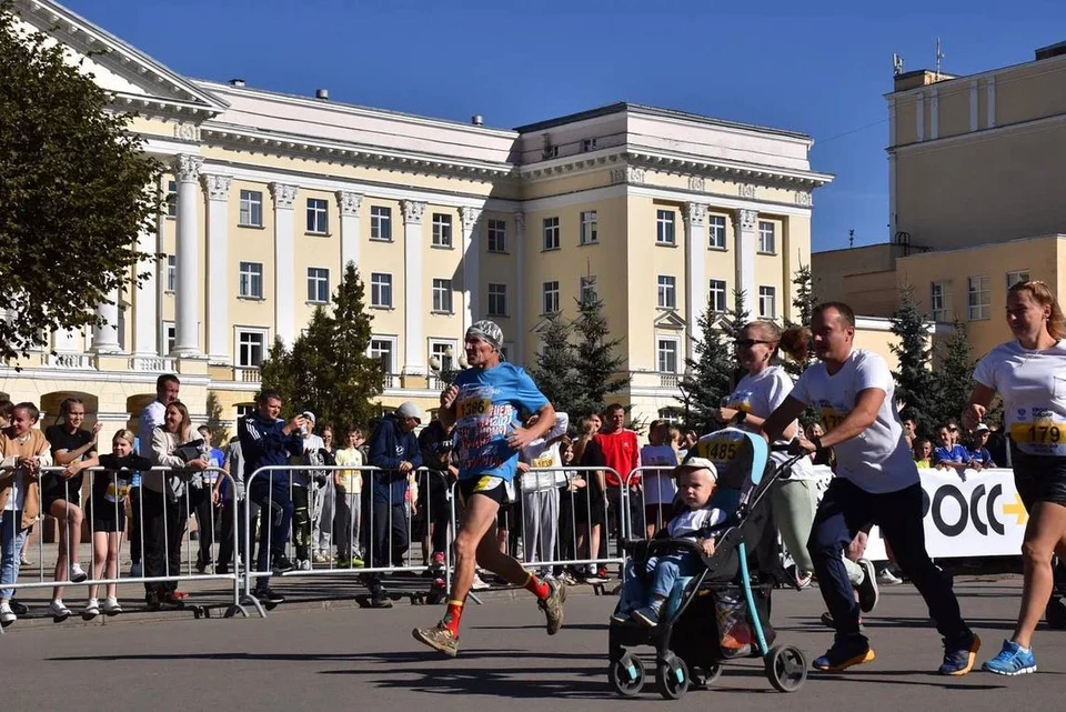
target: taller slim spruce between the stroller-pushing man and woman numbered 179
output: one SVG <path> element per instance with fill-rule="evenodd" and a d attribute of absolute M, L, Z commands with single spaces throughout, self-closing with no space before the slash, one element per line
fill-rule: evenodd
<path fill-rule="evenodd" d="M 898 370 L 892 374 L 896 380 L 896 399 L 914 414 L 918 430 L 929 433 L 936 425 L 941 395 L 931 368 L 932 349 L 925 317 L 914 301 L 913 287 L 901 290 L 899 309 L 891 319 L 892 333 L 899 340 L 898 344 L 892 345 L 892 352 L 899 360 Z"/>

